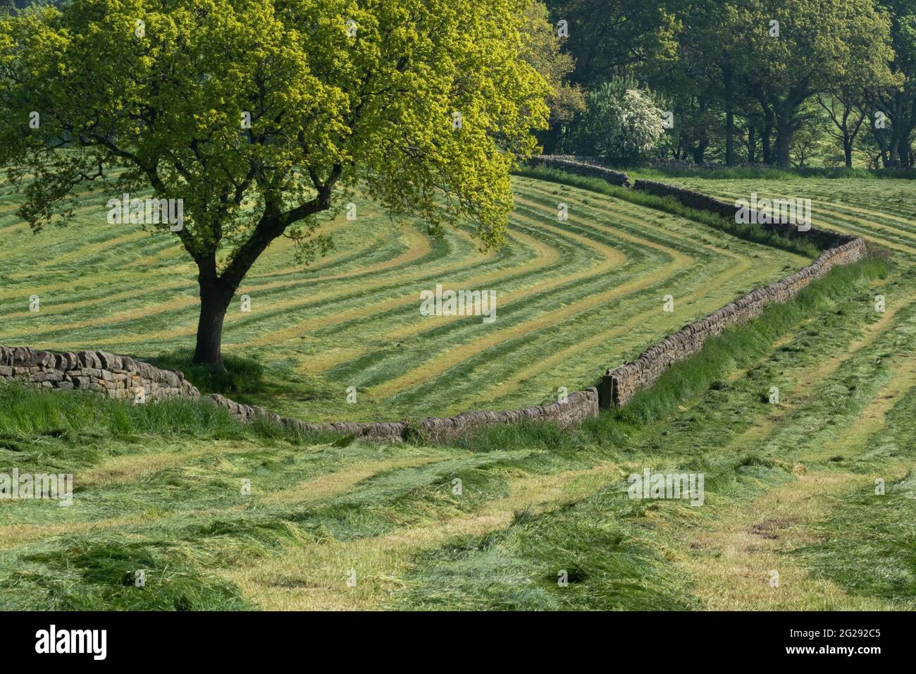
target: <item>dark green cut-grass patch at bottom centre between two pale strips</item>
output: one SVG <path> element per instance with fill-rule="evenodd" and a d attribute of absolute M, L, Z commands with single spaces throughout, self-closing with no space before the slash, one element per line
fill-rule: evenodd
<path fill-rule="evenodd" d="M 648 507 L 607 491 L 550 517 L 516 515 L 506 529 L 455 540 L 420 559 L 389 608 L 567 611 L 699 608 L 689 578 L 667 564 L 638 523 Z M 565 573 L 565 576 L 562 574 Z M 566 580 L 565 585 L 560 579 Z"/>

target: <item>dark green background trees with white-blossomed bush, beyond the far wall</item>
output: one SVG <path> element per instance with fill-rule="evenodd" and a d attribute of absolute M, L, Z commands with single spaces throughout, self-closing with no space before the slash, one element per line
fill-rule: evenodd
<path fill-rule="evenodd" d="M 618 164 L 916 163 L 916 0 L 545 6 L 569 81 L 545 151 Z"/>

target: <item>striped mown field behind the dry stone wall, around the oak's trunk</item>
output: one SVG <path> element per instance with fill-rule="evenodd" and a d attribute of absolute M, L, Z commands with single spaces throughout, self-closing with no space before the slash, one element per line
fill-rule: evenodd
<path fill-rule="evenodd" d="M 307 421 L 551 402 L 810 261 L 604 194 L 524 177 L 514 186 L 509 245 L 496 253 L 478 252 L 470 226 L 431 238 L 358 197 L 355 220 L 342 213 L 324 227 L 335 248 L 309 268 L 279 239 L 224 330 L 224 352 L 260 361 L 267 381 L 230 395 Z M 103 348 L 166 367 L 174 359 L 163 356 L 192 348 L 191 260 L 173 238 L 108 224 L 111 196 L 83 193 L 71 227 L 38 235 L 3 196 L 0 344 Z M 424 315 L 421 293 L 437 286 L 496 293 L 495 320 Z"/>

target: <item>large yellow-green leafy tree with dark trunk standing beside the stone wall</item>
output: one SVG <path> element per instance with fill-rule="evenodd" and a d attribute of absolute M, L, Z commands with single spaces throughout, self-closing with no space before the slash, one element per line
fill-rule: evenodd
<path fill-rule="evenodd" d="M 508 171 L 548 116 L 549 88 L 521 58 L 528 6 L 73 0 L 20 12 L 0 20 L 0 162 L 35 229 L 66 222 L 86 182 L 105 184 L 102 203 L 137 190 L 182 199 L 173 236 L 201 294 L 194 359 L 220 367 L 226 309 L 258 256 L 280 236 L 320 244 L 318 215 L 356 181 L 433 230 L 463 215 L 483 248 L 503 242 Z"/>

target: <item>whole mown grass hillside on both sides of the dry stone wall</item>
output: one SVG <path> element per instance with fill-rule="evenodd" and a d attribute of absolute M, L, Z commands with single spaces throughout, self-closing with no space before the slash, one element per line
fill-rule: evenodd
<path fill-rule="evenodd" d="M 916 273 L 901 248 L 916 238 L 910 206 L 867 196 L 912 182 L 811 184 L 815 224 L 889 248 L 581 426 L 376 445 L 203 401 L 0 387 L 0 467 L 73 476 L 69 507 L 0 503 L 0 608 L 916 608 Z M 516 187 L 512 245 L 490 257 L 467 231 L 434 240 L 371 204 L 333 223 L 339 247 L 310 271 L 272 249 L 227 331 L 267 364 L 261 394 L 283 393 L 269 405 L 370 418 L 538 402 L 807 261 L 600 193 Z M 5 198 L 0 342 L 190 343 L 189 265 L 168 239 L 104 225 L 97 203 L 85 227 L 33 237 Z M 421 316 L 436 283 L 496 290 L 496 321 Z M 645 471 L 702 475 L 702 503 L 631 498 Z"/>

